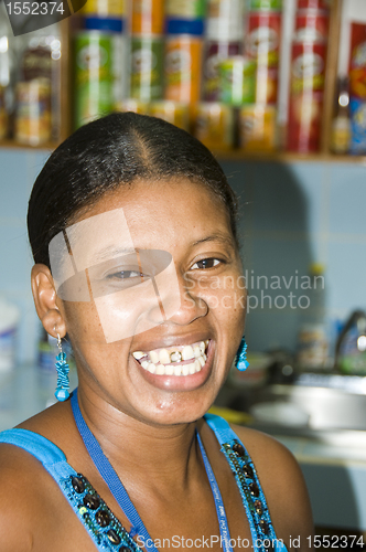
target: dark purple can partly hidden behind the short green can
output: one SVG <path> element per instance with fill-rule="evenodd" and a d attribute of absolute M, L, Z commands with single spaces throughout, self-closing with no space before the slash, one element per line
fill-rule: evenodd
<path fill-rule="evenodd" d="M 219 67 L 227 57 L 240 53 L 240 42 L 207 41 L 203 61 L 203 99 L 219 102 L 222 97 L 222 78 Z"/>

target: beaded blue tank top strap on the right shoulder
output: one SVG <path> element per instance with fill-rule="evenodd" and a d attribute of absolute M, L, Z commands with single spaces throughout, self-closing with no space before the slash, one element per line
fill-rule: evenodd
<path fill-rule="evenodd" d="M 277 539 L 266 497 L 256 467 L 244 444 L 226 420 L 215 414 L 204 416 L 214 432 L 238 486 L 256 552 L 286 552 L 284 543 Z"/>

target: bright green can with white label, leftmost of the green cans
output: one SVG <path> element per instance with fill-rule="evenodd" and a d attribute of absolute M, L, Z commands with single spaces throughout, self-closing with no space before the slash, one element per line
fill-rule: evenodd
<path fill-rule="evenodd" d="M 115 107 L 115 35 L 101 31 L 75 36 L 75 126 L 107 115 Z"/>

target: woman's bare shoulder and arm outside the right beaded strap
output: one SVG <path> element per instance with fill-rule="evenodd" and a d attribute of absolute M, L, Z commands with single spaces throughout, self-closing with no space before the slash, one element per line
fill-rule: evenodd
<path fill-rule="evenodd" d="M 263 489 L 277 537 L 291 549 L 309 550 L 313 534 L 311 506 L 301 468 L 292 453 L 273 437 L 233 426 L 248 450 Z M 300 541 L 294 541 L 294 539 Z"/>

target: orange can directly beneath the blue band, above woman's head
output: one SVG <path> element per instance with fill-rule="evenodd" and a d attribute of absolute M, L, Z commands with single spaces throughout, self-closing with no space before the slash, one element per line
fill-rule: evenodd
<path fill-rule="evenodd" d="M 200 99 L 202 39 L 189 34 L 166 36 L 165 99 L 194 104 Z"/>

